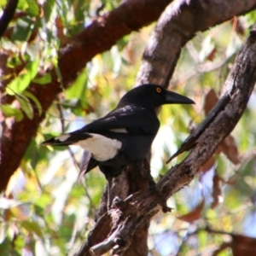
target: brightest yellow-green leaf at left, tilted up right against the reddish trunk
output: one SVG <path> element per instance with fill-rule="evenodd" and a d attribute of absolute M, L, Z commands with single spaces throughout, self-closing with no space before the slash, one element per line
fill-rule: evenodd
<path fill-rule="evenodd" d="M 13 79 L 6 87 L 6 91 L 9 95 L 15 95 L 21 93 L 26 87 L 31 83 L 32 79 L 38 73 L 38 65 L 39 59 L 37 58 L 35 61 L 29 61 L 26 64 L 23 72 Z"/>

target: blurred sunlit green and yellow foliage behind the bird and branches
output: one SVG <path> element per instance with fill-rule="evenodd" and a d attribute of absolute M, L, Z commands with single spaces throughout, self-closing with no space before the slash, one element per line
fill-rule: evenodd
<path fill-rule="evenodd" d="M 32 119 L 32 106 L 37 106 L 39 115 L 44 113 L 29 84 L 31 81 L 38 86 L 49 83 L 50 73 L 40 76 L 40 71 L 54 67 L 58 73 L 57 52 L 61 42 L 90 24 L 98 12 L 115 8 L 119 1 L 103 3 L 100 9 L 101 2 L 97 0 L 46 1 L 43 6 L 33 0 L 20 1 L 20 13 L 1 42 L 9 53 L 8 65 L 15 77 L 9 81 L 3 96 L 14 96 L 18 104 L 1 106 L 6 118 L 15 116 L 20 121 L 26 115 Z M 171 165 L 165 164 L 188 136 L 189 123 L 198 125 L 204 118 L 206 96 L 214 102 L 209 89 L 217 94 L 221 89 L 252 25 L 252 16 L 234 18 L 198 34 L 183 49 L 170 86 L 194 98 L 196 105 L 162 109 L 162 125 L 153 145 L 155 180 L 183 160 L 184 154 L 172 160 Z M 50 136 L 78 129 L 115 106 L 120 96 L 133 86 L 152 29 L 153 26 L 148 26 L 133 32 L 108 52 L 96 55 L 73 85 L 63 90 L 58 101 L 44 113 L 46 118 L 38 135 L 9 182 L 7 197 L 0 198 L 1 255 L 72 255 L 78 250 L 95 223 L 105 179 L 94 170 L 86 175 L 83 183 L 77 183 L 76 161 L 82 154 L 78 148 L 72 147 L 71 154 L 67 148 L 53 150 L 37 145 Z M 213 252 L 231 241 L 229 234 L 256 236 L 253 228 L 256 226 L 255 96 L 254 93 L 233 131 L 236 143 L 232 138 L 224 143 L 189 188 L 168 201 L 174 208 L 172 213 L 160 213 L 152 220 L 148 239 L 152 255 Z M 240 241 L 238 238 L 237 242 Z M 234 247 L 231 248 L 234 253 Z M 222 255 L 230 255 L 230 248 L 224 248 Z"/>

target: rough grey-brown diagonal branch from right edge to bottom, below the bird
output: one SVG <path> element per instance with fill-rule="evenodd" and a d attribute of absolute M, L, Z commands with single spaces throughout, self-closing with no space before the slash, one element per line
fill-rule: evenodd
<path fill-rule="evenodd" d="M 197 137 L 195 148 L 182 163 L 173 166 L 160 179 L 154 190 L 148 189 L 145 195 L 134 195 L 125 201 L 116 200 L 115 208 L 102 216 L 105 220 L 91 230 L 84 247 L 77 255 L 102 255 L 113 248 L 113 254 L 121 255 L 131 244 L 137 228 L 147 224 L 150 218 L 162 208 L 166 211 L 166 200 L 187 185 L 199 168 L 209 159 L 225 137 L 230 134 L 241 114 L 247 107 L 248 99 L 256 82 L 256 26 L 241 47 L 236 61 L 224 84 L 218 104 L 212 108 L 207 125 L 201 125 L 203 132 Z M 203 127 L 202 127 L 203 126 Z M 195 133 L 197 131 L 195 130 Z M 193 137 L 193 134 L 191 135 Z M 108 220 L 107 220 L 108 218 Z M 109 223 L 112 229 L 109 227 Z M 103 225 L 104 224 L 104 225 Z M 99 242 L 102 226 L 108 226 L 108 236 Z M 97 241 L 96 241 L 97 240 Z M 96 242 L 95 242 L 96 241 Z"/>

